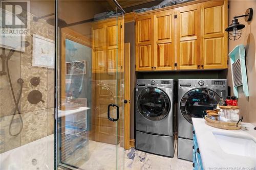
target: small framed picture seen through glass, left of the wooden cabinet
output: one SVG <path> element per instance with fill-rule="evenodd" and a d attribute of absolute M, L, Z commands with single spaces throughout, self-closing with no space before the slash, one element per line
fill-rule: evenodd
<path fill-rule="evenodd" d="M 66 75 L 86 74 L 86 61 L 66 62 Z"/>

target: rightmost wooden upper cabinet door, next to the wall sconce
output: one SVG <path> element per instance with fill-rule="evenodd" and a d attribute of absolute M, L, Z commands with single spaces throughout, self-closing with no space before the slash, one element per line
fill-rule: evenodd
<path fill-rule="evenodd" d="M 204 3 L 201 20 L 201 68 L 227 68 L 227 1 Z"/>

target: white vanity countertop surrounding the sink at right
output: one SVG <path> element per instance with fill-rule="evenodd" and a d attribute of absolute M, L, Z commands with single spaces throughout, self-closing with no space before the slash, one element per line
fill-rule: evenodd
<path fill-rule="evenodd" d="M 224 130 L 206 125 L 202 118 L 192 118 L 192 121 L 204 169 L 256 169 L 254 159 L 224 152 L 214 135 L 243 135 L 256 142 L 256 130 L 252 124 L 242 123 L 247 130 Z"/>

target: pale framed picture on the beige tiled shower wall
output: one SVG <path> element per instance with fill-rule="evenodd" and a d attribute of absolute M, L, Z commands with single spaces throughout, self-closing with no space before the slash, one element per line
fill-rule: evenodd
<path fill-rule="evenodd" d="M 33 34 L 32 66 L 54 68 L 54 41 Z"/>

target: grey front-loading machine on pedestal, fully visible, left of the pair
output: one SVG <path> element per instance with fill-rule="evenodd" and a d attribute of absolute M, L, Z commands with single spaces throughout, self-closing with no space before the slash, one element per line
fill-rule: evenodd
<path fill-rule="evenodd" d="M 136 85 L 135 148 L 174 155 L 174 81 L 139 79 Z"/>

